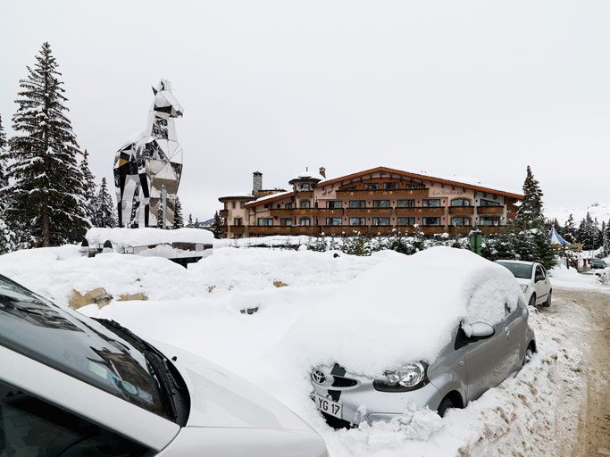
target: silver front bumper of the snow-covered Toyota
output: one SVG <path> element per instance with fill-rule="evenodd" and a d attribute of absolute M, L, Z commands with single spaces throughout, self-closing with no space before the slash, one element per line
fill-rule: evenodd
<path fill-rule="evenodd" d="M 331 370 L 320 369 L 332 379 Z M 439 389 L 431 382 L 419 389 L 408 392 L 380 392 L 372 386 L 372 379 L 362 378 L 351 374 L 343 378 L 356 381 L 355 386 L 331 386 L 330 382 L 324 384 L 312 381 L 313 393 L 328 397 L 342 405 L 341 420 L 353 425 L 362 422 L 389 421 L 400 417 L 409 406 L 430 408 L 436 411 L 442 400 Z"/>

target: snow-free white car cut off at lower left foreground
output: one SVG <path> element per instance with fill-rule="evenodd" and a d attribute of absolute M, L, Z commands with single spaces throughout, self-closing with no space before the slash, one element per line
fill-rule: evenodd
<path fill-rule="evenodd" d="M 0 454 L 327 456 L 236 375 L 0 276 Z"/>

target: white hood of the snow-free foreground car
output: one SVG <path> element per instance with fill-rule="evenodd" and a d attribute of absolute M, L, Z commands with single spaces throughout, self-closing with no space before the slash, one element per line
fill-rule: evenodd
<path fill-rule="evenodd" d="M 313 431 L 271 395 L 194 353 L 151 341 L 184 378 L 190 395 L 187 427 L 271 428 Z"/>

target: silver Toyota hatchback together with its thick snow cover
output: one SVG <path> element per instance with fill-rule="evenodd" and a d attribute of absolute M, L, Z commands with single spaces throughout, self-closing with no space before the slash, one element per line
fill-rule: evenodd
<path fill-rule="evenodd" d="M 443 416 L 536 351 L 513 275 L 460 249 L 384 262 L 330 302 L 293 332 L 309 335 L 304 350 L 322 361 L 313 365 L 311 396 L 333 427 L 389 421 L 413 405 Z"/>

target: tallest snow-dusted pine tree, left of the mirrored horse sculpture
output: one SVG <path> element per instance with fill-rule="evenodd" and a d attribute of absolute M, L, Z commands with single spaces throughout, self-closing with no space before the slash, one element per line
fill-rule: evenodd
<path fill-rule="evenodd" d="M 20 80 L 13 115 L 18 136 L 9 140 L 11 184 L 5 217 L 30 229 L 35 245 L 63 245 L 82 239 L 88 228 L 80 154 L 66 117 L 61 73 L 44 43 L 36 63 Z"/>

